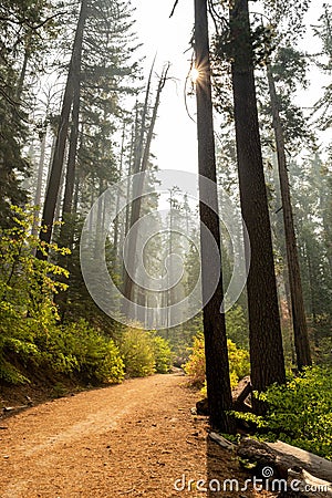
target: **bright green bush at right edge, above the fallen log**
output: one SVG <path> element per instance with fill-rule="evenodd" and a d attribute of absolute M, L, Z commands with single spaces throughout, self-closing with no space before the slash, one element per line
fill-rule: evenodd
<path fill-rule="evenodd" d="M 237 416 L 257 424 L 264 439 L 278 438 L 332 460 L 331 384 L 331 367 L 307 367 L 286 386 L 256 394 L 268 405 L 266 416 Z"/>

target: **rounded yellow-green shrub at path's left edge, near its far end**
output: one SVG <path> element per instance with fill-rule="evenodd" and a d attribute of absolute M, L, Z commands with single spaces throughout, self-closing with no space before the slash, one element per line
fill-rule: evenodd
<path fill-rule="evenodd" d="M 120 351 L 131 377 L 144 377 L 155 372 L 154 343 L 148 332 L 128 328 L 123 333 Z"/>

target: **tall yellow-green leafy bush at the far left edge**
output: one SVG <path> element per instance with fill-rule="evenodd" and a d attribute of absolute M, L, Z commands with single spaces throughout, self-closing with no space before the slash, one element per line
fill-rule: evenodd
<path fill-rule="evenodd" d="M 34 339 L 54 326 L 59 317 L 53 295 L 66 288 L 56 277 L 68 272 L 33 256 L 45 250 L 31 234 L 33 210 L 12 207 L 12 212 L 14 225 L 0 230 L 0 378 L 17 384 L 28 381 L 20 364 L 41 361 Z M 56 245 L 50 249 L 68 252 Z"/>

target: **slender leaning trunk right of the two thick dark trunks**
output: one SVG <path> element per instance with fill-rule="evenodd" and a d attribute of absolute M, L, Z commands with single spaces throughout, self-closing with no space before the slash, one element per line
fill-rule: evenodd
<path fill-rule="evenodd" d="M 283 227 L 286 236 L 286 252 L 288 261 L 289 286 L 292 304 L 292 320 L 294 330 L 294 344 L 298 369 L 312 364 L 310 343 L 308 336 L 307 319 L 304 312 L 300 264 L 298 258 L 297 237 L 287 172 L 283 129 L 279 114 L 278 97 L 271 66 L 267 68 L 270 102 L 273 117 L 273 129 L 277 145 L 280 191 L 282 199 Z"/>

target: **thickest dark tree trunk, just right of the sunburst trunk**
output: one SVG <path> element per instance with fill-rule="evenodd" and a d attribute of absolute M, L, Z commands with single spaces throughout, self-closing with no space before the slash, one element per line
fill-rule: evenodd
<path fill-rule="evenodd" d="M 286 382 L 271 227 L 253 79 L 248 0 L 230 9 L 231 64 L 241 211 L 251 262 L 247 280 L 251 382 L 257 391 Z M 249 263 L 249 261 L 248 261 Z M 263 406 L 256 401 L 260 412 Z"/>

